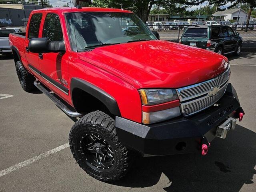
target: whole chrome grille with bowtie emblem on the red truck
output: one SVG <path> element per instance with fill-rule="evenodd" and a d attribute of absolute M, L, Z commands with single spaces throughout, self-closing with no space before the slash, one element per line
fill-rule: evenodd
<path fill-rule="evenodd" d="M 184 116 L 190 116 L 215 104 L 225 93 L 230 74 L 228 69 L 216 78 L 177 89 Z M 211 91 L 218 87 L 214 94 Z"/>

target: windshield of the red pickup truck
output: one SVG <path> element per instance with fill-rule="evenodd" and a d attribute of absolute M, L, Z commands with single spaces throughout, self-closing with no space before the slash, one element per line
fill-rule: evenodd
<path fill-rule="evenodd" d="M 135 14 L 120 12 L 72 12 L 66 14 L 73 50 L 156 40 Z"/>

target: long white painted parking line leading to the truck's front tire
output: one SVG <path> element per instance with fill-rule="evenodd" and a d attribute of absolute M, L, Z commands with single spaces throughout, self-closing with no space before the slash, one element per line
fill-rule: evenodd
<path fill-rule="evenodd" d="M 54 153 L 56 153 L 56 152 L 58 152 L 58 151 L 60 151 L 62 149 L 68 148 L 68 147 L 69 147 L 69 144 L 66 143 L 66 144 L 58 146 L 58 147 L 56 147 L 56 148 L 54 148 L 54 149 L 52 149 L 50 151 L 44 152 L 44 153 L 40 154 L 39 156 L 34 156 L 34 157 L 32 157 L 32 158 L 30 158 L 30 159 L 28 159 L 26 161 L 20 162 L 20 163 L 14 165 L 14 166 L 6 168 L 5 170 L 0 171 L 0 177 L 6 175 L 8 173 L 11 173 L 11 172 L 13 172 L 13 171 L 15 171 L 17 169 L 20 169 L 22 167 L 25 167 L 25 166 L 33 163 L 33 162 L 36 162 L 36 161 L 40 160 L 41 158 L 47 157 L 47 156 L 49 156 L 51 154 L 54 154 Z"/>

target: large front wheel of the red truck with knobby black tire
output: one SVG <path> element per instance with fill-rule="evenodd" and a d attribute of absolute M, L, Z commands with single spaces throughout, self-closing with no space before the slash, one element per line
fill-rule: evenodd
<path fill-rule="evenodd" d="M 102 111 L 80 118 L 70 130 L 69 144 L 78 165 L 101 181 L 122 178 L 132 163 L 131 151 L 116 135 L 115 120 Z"/>

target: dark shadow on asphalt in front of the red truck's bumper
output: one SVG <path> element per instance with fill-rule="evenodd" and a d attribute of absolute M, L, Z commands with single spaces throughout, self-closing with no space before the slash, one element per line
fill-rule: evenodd
<path fill-rule="evenodd" d="M 255 143 L 256 133 L 237 125 L 225 140 L 213 140 L 206 156 L 138 157 L 128 174 L 112 184 L 132 188 L 160 186 L 158 182 L 163 173 L 170 180 L 161 185 L 167 192 L 239 192 L 244 184 L 253 183 L 252 177 L 256 174 Z"/>

